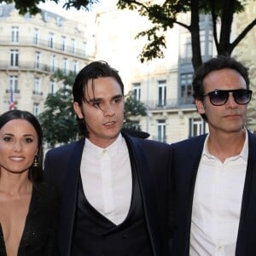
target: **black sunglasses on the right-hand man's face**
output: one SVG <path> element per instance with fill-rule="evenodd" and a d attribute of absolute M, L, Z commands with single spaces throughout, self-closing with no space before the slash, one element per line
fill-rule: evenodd
<path fill-rule="evenodd" d="M 203 96 L 209 96 L 210 102 L 214 106 L 222 106 L 224 105 L 230 96 L 230 92 L 234 97 L 234 100 L 239 105 L 246 105 L 251 101 L 252 98 L 252 90 L 247 89 L 238 89 L 238 90 L 212 90 Z"/>

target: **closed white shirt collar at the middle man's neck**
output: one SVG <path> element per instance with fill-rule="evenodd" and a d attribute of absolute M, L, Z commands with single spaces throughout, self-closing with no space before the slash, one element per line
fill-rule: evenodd
<path fill-rule="evenodd" d="M 106 152 L 111 156 L 114 157 L 119 152 L 119 148 L 122 147 L 123 143 L 125 143 L 124 137 L 122 137 L 121 133 L 117 139 L 110 144 L 107 148 L 101 148 L 96 146 L 95 144 L 91 143 L 90 140 L 86 137 L 84 143 L 84 149 L 89 151 L 90 154 L 95 155 L 96 157 L 100 158 L 102 154 Z"/>

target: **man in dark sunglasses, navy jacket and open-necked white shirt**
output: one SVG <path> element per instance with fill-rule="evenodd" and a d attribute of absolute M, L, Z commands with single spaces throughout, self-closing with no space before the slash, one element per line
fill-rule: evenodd
<path fill-rule="evenodd" d="M 246 128 L 247 68 L 217 56 L 193 80 L 209 133 L 173 143 L 172 255 L 256 255 L 256 137 Z"/>

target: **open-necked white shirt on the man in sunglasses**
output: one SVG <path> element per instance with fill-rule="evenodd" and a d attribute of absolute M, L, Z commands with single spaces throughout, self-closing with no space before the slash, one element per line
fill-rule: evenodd
<path fill-rule="evenodd" d="M 247 132 L 241 154 L 224 163 L 208 152 L 207 139 L 195 182 L 189 255 L 232 256 L 247 170 Z"/>

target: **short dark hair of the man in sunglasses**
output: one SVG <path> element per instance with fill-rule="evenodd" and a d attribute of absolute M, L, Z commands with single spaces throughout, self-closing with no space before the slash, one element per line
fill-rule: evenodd
<path fill-rule="evenodd" d="M 248 69 L 243 66 L 241 62 L 236 61 L 234 58 L 226 55 L 218 55 L 209 61 L 203 63 L 201 67 L 199 67 L 194 74 L 193 78 L 193 96 L 194 99 L 199 100 L 201 102 L 204 101 L 205 89 L 203 85 L 203 79 L 207 76 L 208 73 L 212 71 L 230 68 L 236 70 L 236 72 L 240 73 L 243 79 L 245 79 L 247 84 L 247 89 L 249 89 L 249 78 L 248 78 Z M 205 114 L 201 114 L 201 117 L 207 120 Z"/>

